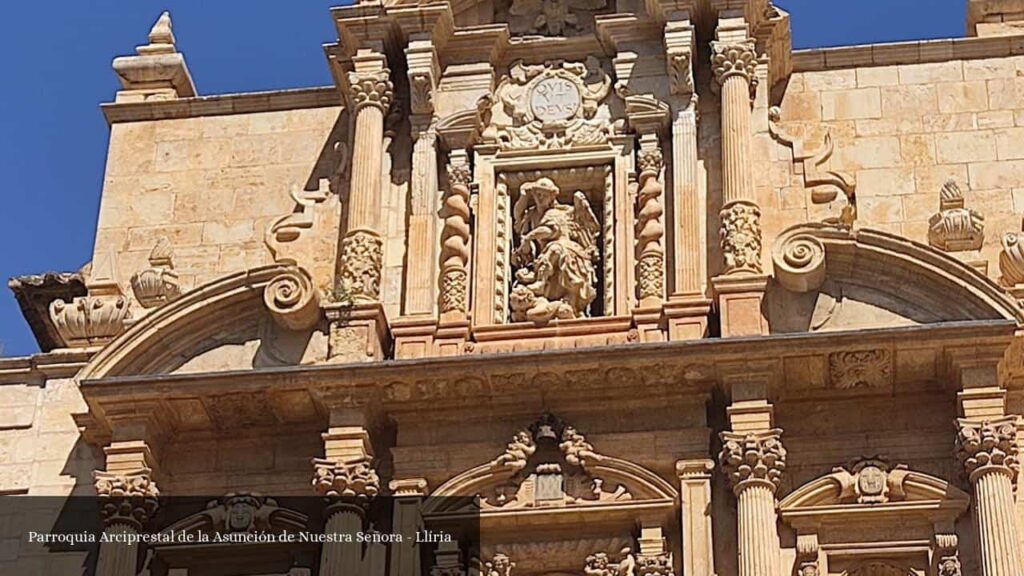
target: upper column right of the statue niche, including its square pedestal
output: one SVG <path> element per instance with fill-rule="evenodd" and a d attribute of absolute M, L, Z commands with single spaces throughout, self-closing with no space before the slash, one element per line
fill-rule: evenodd
<path fill-rule="evenodd" d="M 712 43 L 715 85 L 722 96 L 723 266 L 713 282 L 719 296 L 723 336 L 768 332 L 761 310 L 768 282 L 761 264 L 761 208 L 751 169 L 757 51 L 748 28 L 742 18 L 720 20 Z"/>

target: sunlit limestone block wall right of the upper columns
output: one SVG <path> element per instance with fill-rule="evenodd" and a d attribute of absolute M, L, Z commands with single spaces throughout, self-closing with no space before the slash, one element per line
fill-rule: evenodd
<path fill-rule="evenodd" d="M 1000 238 L 1020 232 L 1024 213 L 1024 56 L 798 72 L 780 109 L 808 153 L 831 134 L 822 168 L 856 177 L 860 227 L 928 243 L 939 192 L 955 181 L 985 218 L 980 252 L 955 255 L 998 277 Z M 812 204 L 791 149 L 769 134 L 760 143 L 772 158 L 771 186 L 760 189 L 766 244 L 836 210 Z"/>

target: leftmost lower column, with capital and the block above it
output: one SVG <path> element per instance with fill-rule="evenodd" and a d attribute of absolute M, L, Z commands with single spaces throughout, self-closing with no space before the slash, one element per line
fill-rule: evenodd
<path fill-rule="evenodd" d="M 143 442 L 115 442 L 104 449 L 106 470 L 93 472 L 103 520 L 97 576 L 135 576 L 138 544 L 123 539 L 145 528 L 159 507 L 160 491 L 150 467 L 153 456 Z"/>

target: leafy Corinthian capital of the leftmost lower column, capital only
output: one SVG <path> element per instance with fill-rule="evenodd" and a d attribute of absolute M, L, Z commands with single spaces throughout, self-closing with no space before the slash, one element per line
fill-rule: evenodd
<path fill-rule="evenodd" d="M 160 490 L 150 468 L 129 472 L 94 471 L 92 479 L 103 526 L 121 524 L 139 530 L 157 513 Z"/>

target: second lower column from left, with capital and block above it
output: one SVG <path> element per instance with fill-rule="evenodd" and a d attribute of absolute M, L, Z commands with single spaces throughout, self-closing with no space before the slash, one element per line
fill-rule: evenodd
<path fill-rule="evenodd" d="M 324 435 L 325 458 L 313 459 L 313 490 L 328 501 L 325 531 L 357 534 L 365 529 L 367 508 L 380 492 L 372 465 L 370 436 L 360 426 L 336 426 Z M 322 576 L 369 576 L 371 549 L 355 540 L 324 543 Z"/>

